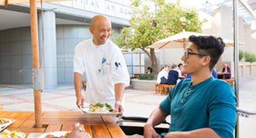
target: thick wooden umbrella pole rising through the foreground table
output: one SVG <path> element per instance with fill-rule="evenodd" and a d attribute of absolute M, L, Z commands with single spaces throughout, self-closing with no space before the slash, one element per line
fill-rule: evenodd
<path fill-rule="evenodd" d="M 40 59 L 39 59 L 36 0 L 29 0 L 29 3 L 30 3 L 30 28 L 31 28 L 33 69 L 39 69 Z M 39 78 L 39 79 L 43 79 L 43 78 Z M 34 90 L 34 106 L 35 106 L 36 128 L 42 128 L 43 125 L 42 125 L 42 106 L 41 106 L 40 90 Z"/>

